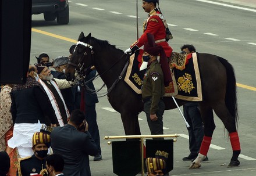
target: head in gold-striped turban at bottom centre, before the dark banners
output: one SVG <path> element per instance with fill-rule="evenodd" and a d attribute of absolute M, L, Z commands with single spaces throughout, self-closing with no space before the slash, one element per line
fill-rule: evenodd
<path fill-rule="evenodd" d="M 148 176 L 162 176 L 166 174 L 166 160 L 168 153 L 157 151 L 155 157 L 148 157 L 145 160 Z"/>

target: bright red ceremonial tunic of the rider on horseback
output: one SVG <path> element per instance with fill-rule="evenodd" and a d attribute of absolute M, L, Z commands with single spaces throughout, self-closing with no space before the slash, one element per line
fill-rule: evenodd
<path fill-rule="evenodd" d="M 157 14 L 162 16 L 157 8 L 155 8 L 148 14 L 148 19 L 143 25 L 143 34 L 136 42 L 134 42 L 130 46 L 130 48 L 131 48 L 131 51 L 136 51 L 138 48 L 143 46 L 144 43 L 148 42 L 147 33 L 151 33 L 154 35 L 155 43 L 163 47 L 163 50 L 165 51 L 166 56 L 169 58 L 172 53 L 172 48 L 169 46 L 168 42 L 166 42 L 165 40 L 166 38 L 165 25 L 163 24 L 162 19 Z"/>

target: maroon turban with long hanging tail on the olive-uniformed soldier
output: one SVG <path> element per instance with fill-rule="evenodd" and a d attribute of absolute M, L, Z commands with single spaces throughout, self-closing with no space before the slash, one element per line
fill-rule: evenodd
<path fill-rule="evenodd" d="M 165 51 L 161 45 L 155 44 L 154 35 L 147 33 L 147 38 L 148 43 L 144 44 L 144 51 L 152 56 L 160 55 L 160 64 L 163 71 L 163 82 L 165 87 L 167 87 L 169 82 L 172 82 L 172 76 L 170 75 L 170 66 L 165 55 Z"/>

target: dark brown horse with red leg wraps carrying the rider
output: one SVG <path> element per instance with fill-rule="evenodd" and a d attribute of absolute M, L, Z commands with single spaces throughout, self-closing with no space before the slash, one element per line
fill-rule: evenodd
<path fill-rule="evenodd" d="M 113 109 L 121 114 L 126 135 L 140 135 L 138 114 L 143 111 L 141 95 L 134 92 L 122 77 L 128 57 L 121 49 L 108 41 L 91 37 L 91 33 L 79 35 L 76 48 L 65 70 L 66 79 L 74 80 L 77 70 L 86 71 L 95 66 L 102 81 L 108 88 L 108 100 Z M 202 121 L 204 123 L 204 138 L 200 153 L 190 168 L 201 167 L 201 161 L 207 156 L 212 134 L 215 130 L 214 112 L 222 120 L 229 132 L 233 155 L 227 167 L 239 166 L 240 142 L 237 134 L 237 91 L 236 77 L 233 66 L 216 55 L 197 53 L 198 67 L 201 74 L 202 101 L 199 102 Z M 172 97 L 163 97 L 165 109 L 174 109 L 177 106 Z M 177 99 L 179 106 L 186 101 Z"/>

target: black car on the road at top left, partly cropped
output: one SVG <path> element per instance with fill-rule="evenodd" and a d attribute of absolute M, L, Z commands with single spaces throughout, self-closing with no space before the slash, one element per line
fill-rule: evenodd
<path fill-rule="evenodd" d="M 54 21 L 58 24 L 69 23 L 68 0 L 32 0 L 32 14 L 44 13 L 45 21 Z"/>

